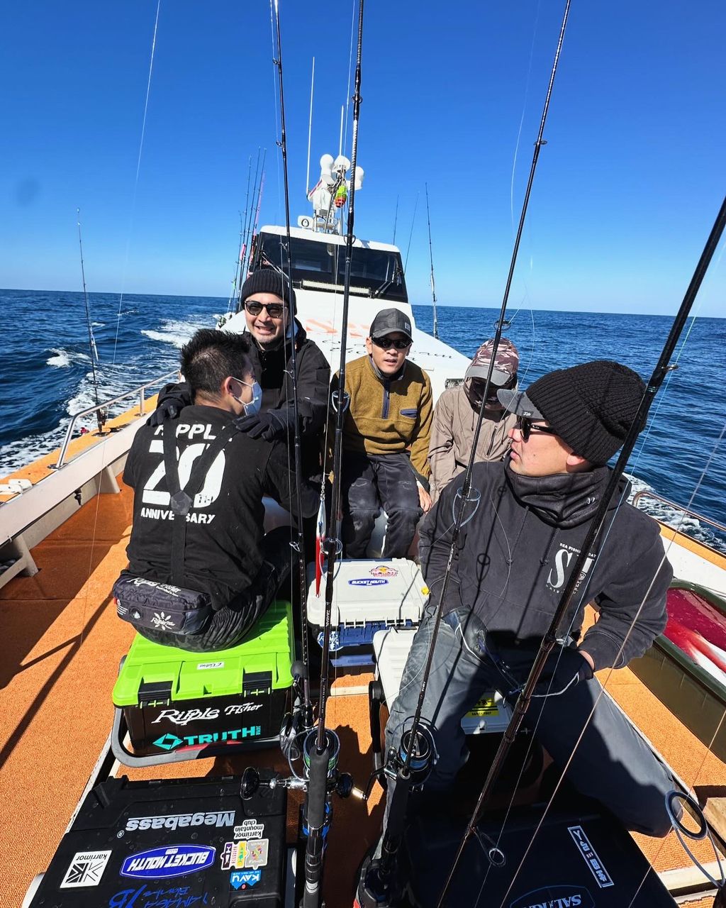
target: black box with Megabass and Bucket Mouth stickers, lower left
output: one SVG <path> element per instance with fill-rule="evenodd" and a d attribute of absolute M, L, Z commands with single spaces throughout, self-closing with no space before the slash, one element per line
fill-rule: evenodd
<path fill-rule="evenodd" d="M 243 799 L 240 782 L 124 775 L 96 785 L 31 908 L 282 908 L 287 792 Z"/>

